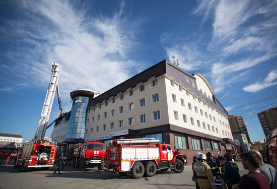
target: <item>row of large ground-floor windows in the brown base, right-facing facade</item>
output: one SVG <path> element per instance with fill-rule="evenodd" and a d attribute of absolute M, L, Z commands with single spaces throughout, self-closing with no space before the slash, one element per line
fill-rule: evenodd
<path fill-rule="evenodd" d="M 209 139 L 204 139 L 204 149 L 199 137 L 191 137 L 191 146 L 193 150 L 206 150 L 206 151 L 221 151 L 219 142 L 211 141 Z M 175 133 L 174 134 L 175 149 L 189 149 L 187 136 L 184 134 Z M 212 146 L 214 144 L 214 149 Z"/>

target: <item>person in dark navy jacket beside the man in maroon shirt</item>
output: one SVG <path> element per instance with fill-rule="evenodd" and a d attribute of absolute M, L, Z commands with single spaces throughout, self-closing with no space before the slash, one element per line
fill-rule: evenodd
<path fill-rule="evenodd" d="M 225 166 L 225 172 L 224 172 L 223 178 L 221 178 L 221 181 L 222 182 L 225 181 L 227 184 L 227 187 L 231 189 L 232 185 L 237 184 L 240 181 L 239 171 L 235 168 L 235 166 L 230 161 L 227 161 L 224 156 L 220 156 L 219 161 L 222 165 Z"/>

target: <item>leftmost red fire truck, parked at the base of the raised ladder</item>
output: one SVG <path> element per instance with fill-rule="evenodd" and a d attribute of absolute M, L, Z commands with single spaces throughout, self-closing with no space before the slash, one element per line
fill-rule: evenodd
<path fill-rule="evenodd" d="M 17 154 L 15 168 L 20 167 L 21 171 L 29 168 L 48 169 L 54 166 L 56 156 L 56 143 L 50 138 L 33 140 L 25 143 Z"/>

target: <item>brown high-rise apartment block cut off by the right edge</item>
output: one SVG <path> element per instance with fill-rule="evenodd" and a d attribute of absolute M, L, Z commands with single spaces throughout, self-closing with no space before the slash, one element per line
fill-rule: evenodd
<path fill-rule="evenodd" d="M 259 112 L 258 118 L 260 120 L 263 133 L 265 137 L 267 137 L 274 128 L 277 128 L 277 107 Z"/>

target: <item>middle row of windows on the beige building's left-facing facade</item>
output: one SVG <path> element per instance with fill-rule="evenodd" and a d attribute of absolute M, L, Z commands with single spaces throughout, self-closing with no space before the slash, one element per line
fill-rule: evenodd
<path fill-rule="evenodd" d="M 158 102 L 159 101 L 159 93 L 156 93 L 156 94 L 153 94 L 152 95 L 152 102 L 153 103 L 155 103 L 155 102 Z M 145 103 L 145 98 L 142 98 L 142 99 L 140 99 L 140 100 L 138 100 L 138 105 L 140 106 L 140 107 L 143 107 L 143 106 L 145 106 L 146 105 L 146 103 Z M 130 110 L 133 110 L 133 108 L 134 108 L 134 104 L 133 104 L 133 102 L 130 102 L 129 104 L 128 104 L 128 110 L 130 111 Z M 118 113 L 123 113 L 124 112 L 124 106 L 120 106 L 119 108 L 118 108 Z M 107 114 L 108 114 L 108 112 L 107 111 L 105 111 L 104 113 L 103 113 L 103 118 L 107 118 Z M 111 111 L 110 111 L 110 115 L 111 116 L 114 116 L 115 115 L 115 109 L 112 109 Z M 98 114 L 97 115 L 97 120 L 100 120 L 101 119 L 101 114 Z M 94 118 L 94 116 L 91 118 L 91 122 L 94 122 L 95 121 L 95 118 Z M 87 123 L 89 123 L 89 118 L 87 118 Z"/>

